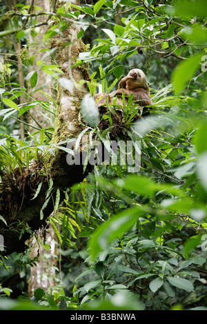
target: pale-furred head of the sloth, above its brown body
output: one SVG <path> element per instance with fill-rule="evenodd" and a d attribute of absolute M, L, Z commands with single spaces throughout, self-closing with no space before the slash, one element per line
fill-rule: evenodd
<path fill-rule="evenodd" d="M 148 81 L 146 75 L 142 70 L 133 69 L 128 72 L 128 80 L 126 81 L 127 90 L 135 90 L 136 88 L 145 88 L 149 91 Z"/>

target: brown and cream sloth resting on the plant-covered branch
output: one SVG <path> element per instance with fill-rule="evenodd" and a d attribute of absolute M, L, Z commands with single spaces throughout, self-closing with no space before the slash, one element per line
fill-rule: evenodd
<path fill-rule="evenodd" d="M 110 94 L 95 94 L 94 99 L 96 100 L 97 107 L 99 108 L 107 103 L 112 105 L 115 99 L 116 105 L 123 106 L 123 92 L 125 96 L 124 106 L 127 105 L 130 94 L 133 94 L 133 100 L 136 101 L 138 106 L 145 107 L 146 105 L 152 105 L 150 99 L 150 88 L 148 86 L 146 75 L 142 70 L 133 69 L 130 70 L 126 77 L 121 79 L 118 85 L 118 90 L 115 90 Z"/>

